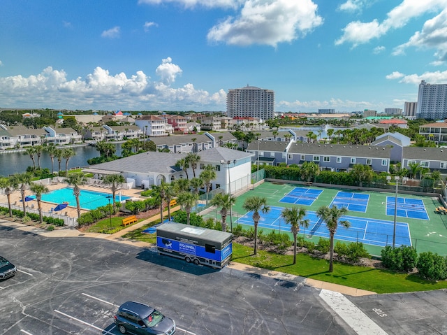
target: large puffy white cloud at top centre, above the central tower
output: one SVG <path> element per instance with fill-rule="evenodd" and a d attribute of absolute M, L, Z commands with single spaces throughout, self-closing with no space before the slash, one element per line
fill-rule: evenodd
<path fill-rule="evenodd" d="M 323 24 L 312 0 L 247 0 L 238 17 L 228 17 L 208 32 L 209 41 L 232 45 L 291 42 Z"/>

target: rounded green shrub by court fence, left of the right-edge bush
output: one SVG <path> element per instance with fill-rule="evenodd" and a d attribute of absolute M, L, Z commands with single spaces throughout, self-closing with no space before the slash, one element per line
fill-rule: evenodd
<path fill-rule="evenodd" d="M 416 249 L 408 245 L 393 248 L 387 245 L 381 251 L 382 264 L 393 271 L 409 273 L 417 264 L 418 253 Z"/>

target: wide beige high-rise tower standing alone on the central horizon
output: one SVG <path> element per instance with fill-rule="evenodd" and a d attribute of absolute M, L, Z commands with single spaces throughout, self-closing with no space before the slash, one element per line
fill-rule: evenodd
<path fill-rule="evenodd" d="M 226 113 L 228 117 L 257 117 L 262 120 L 273 118 L 274 91 L 249 86 L 228 90 Z"/>

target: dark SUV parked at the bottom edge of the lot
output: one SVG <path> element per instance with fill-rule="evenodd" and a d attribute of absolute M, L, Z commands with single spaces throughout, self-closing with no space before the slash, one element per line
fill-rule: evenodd
<path fill-rule="evenodd" d="M 145 304 L 127 301 L 119 306 L 115 315 L 119 332 L 126 334 L 173 335 L 175 322 Z"/>

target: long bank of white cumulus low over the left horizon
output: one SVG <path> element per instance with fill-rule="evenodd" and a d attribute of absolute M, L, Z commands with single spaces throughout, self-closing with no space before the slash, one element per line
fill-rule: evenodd
<path fill-rule="evenodd" d="M 0 106 L 28 108 L 177 110 L 191 109 L 224 111 L 226 92 L 210 93 L 196 89 L 191 83 L 172 87 L 182 73 L 167 57 L 156 69 L 160 81 L 151 80 L 143 71 L 131 76 L 112 75 L 96 67 L 85 78 L 68 80 L 64 70 L 48 66 L 37 75 L 0 78 Z"/>

